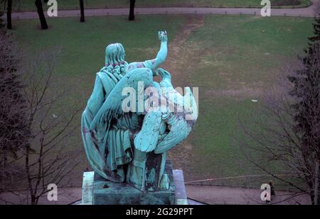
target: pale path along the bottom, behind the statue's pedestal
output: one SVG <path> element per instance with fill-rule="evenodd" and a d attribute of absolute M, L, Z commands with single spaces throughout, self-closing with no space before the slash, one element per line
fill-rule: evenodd
<path fill-rule="evenodd" d="M 265 204 L 260 200 L 260 189 L 244 189 L 237 187 L 227 187 L 227 186 L 191 186 L 186 185 L 186 191 L 188 198 L 192 198 L 197 201 L 208 204 L 235 204 L 235 205 L 257 205 Z M 0 194 L 0 204 L 5 204 L 4 200 L 8 201 L 8 204 L 21 203 L 21 200 L 26 201 L 26 193 L 19 193 L 19 197 L 13 193 L 1 193 Z M 48 201 L 47 196 L 44 195 L 39 199 L 39 204 L 70 204 L 81 199 L 82 190 L 81 188 L 64 188 L 58 189 L 58 201 Z M 273 204 L 310 204 L 309 196 L 297 196 L 292 199 L 287 200 L 292 197 L 293 193 L 288 193 L 285 191 L 276 191 L 276 196 L 272 200 Z M 199 204 L 193 203 L 192 204 Z"/>

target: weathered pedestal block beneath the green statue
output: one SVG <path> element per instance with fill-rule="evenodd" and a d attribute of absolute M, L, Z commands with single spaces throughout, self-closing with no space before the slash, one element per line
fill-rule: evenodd
<path fill-rule="evenodd" d="M 106 181 L 94 172 L 85 172 L 82 183 L 83 205 L 174 205 L 188 204 L 182 170 L 166 163 L 170 185 L 168 190 L 140 191 L 129 184 Z"/>

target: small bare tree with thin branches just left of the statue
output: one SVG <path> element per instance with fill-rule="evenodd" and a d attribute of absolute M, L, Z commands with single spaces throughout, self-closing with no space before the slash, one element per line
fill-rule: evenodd
<path fill-rule="evenodd" d="M 70 138 L 78 125 L 73 122 L 80 112 L 78 104 L 63 104 L 68 93 L 53 83 L 57 52 L 42 52 L 24 67 L 25 94 L 28 103 L 28 125 L 31 141 L 23 152 L 28 193 L 31 204 L 48 192 L 48 184 L 67 186 L 70 173 L 78 165 L 78 152 Z M 65 109 L 65 111 L 63 111 Z"/>

